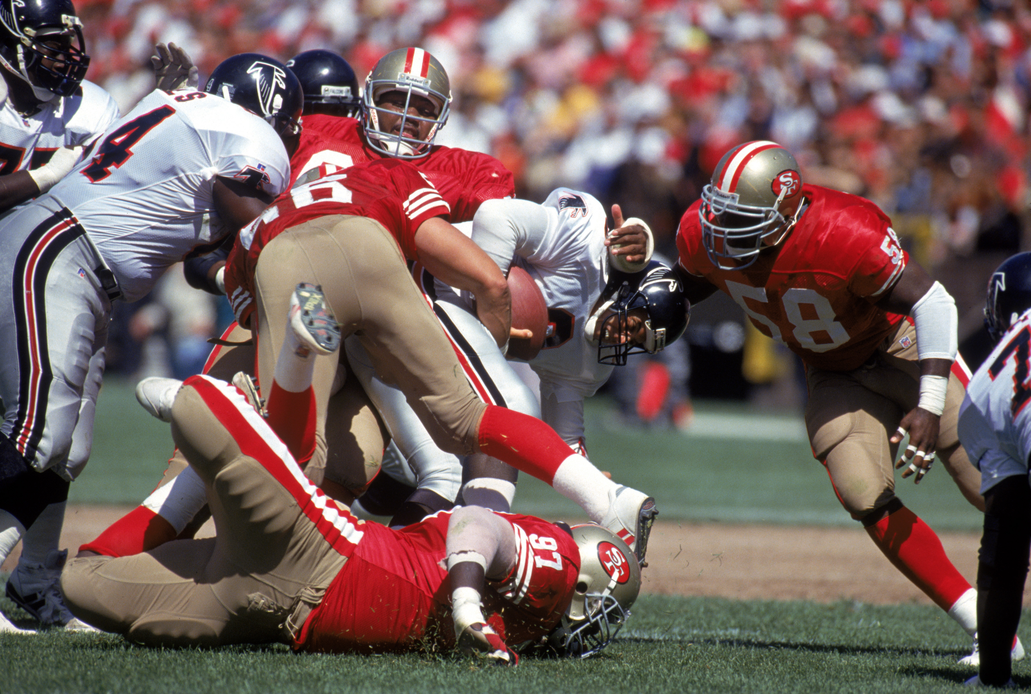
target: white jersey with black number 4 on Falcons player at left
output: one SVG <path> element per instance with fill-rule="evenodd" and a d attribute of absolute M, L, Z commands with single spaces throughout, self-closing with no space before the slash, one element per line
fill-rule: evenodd
<path fill-rule="evenodd" d="M 274 198 L 290 179 L 290 159 L 272 127 L 243 107 L 155 90 L 49 196 L 74 213 L 133 302 L 171 265 L 226 236 L 214 212 L 217 176 Z"/>

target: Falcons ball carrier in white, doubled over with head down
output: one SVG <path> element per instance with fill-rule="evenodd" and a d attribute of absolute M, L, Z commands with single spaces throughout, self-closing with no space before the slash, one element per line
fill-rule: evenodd
<path fill-rule="evenodd" d="M 608 379 L 613 365 L 626 362 L 628 353 L 663 349 L 683 335 L 688 322 L 688 307 L 676 278 L 669 268 L 648 262 L 651 231 L 638 220 L 625 224 L 619 206 L 613 206 L 613 219 L 617 229 L 608 233 L 601 204 L 568 188 L 554 190 L 543 204 L 487 201 L 473 218 L 472 241 L 506 275 L 513 266 L 528 271 L 547 307 L 551 332 L 546 338 L 541 336 L 543 348 L 523 353 L 540 377 L 539 404 L 477 320 L 474 298 L 436 279 L 425 267 L 415 266 L 413 271 L 427 303 L 463 365 L 468 365 L 467 375 L 480 396 L 540 416 L 585 457 L 584 398 Z M 611 254 L 611 246 L 606 248 L 616 242 L 620 255 Z M 410 479 L 407 470 L 415 474 L 418 488 L 392 525 L 405 525 L 451 508 L 460 489 L 467 504 L 496 511 L 510 508 L 514 471 L 484 456 L 463 461 L 440 450 L 404 393 L 375 376 L 358 341 L 348 338 L 344 346 L 348 363 L 393 437 L 384 471 L 401 481 Z M 469 466 L 464 486 L 463 462 Z M 591 484 L 588 480 L 570 483 Z M 370 495 L 381 488 L 374 485 Z M 381 495 L 375 498 L 379 501 Z M 624 540 L 633 543 L 630 535 Z"/>

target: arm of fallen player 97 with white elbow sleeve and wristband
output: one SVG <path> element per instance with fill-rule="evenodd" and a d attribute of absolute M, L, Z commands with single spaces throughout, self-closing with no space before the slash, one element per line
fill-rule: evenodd
<path fill-rule="evenodd" d="M 516 536 L 511 524 L 487 509 L 457 509 L 447 523 L 447 577 L 452 586 L 452 619 L 459 649 L 499 665 L 516 665 L 508 650 L 487 624 L 480 596 L 490 578 L 503 580 L 516 567 Z"/>

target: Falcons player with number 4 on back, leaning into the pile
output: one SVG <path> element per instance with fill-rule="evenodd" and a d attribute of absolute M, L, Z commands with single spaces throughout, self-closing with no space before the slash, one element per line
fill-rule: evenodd
<path fill-rule="evenodd" d="M 67 498 L 89 458 L 111 302 L 140 299 L 284 189 L 281 138 L 296 133 L 300 111 L 300 85 L 282 64 L 235 56 L 205 92 L 144 97 L 71 174 L 0 223 L 0 559 Z M 70 619 L 54 583 L 62 560 L 46 577 L 15 571 L 7 583 L 45 623 Z"/>

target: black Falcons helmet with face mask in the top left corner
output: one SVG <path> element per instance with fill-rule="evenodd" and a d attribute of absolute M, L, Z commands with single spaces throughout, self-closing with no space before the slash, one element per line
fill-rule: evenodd
<path fill-rule="evenodd" d="M 71 0 L 0 0 L 0 64 L 39 101 L 74 94 L 90 57 Z"/>

